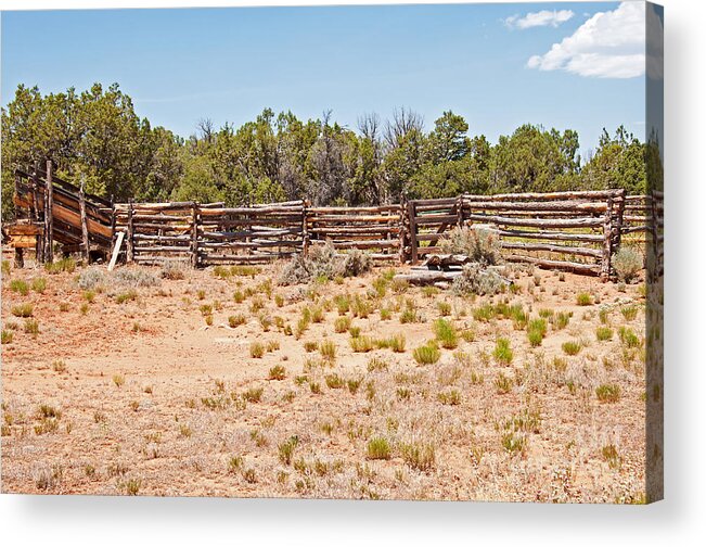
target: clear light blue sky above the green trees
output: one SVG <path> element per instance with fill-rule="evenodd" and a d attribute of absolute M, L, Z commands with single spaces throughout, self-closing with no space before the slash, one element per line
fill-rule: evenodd
<path fill-rule="evenodd" d="M 452 110 L 492 142 L 524 123 L 573 128 L 586 152 L 603 127 L 624 124 L 644 138 L 645 77 L 636 64 L 644 36 L 598 68 L 586 61 L 603 51 L 595 42 L 627 28 L 617 15 L 601 20 L 613 22 L 603 30 L 587 21 L 619 7 L 3 12 L 2 104 L 21 82 L 47 93 L 117 81 L 140 116 L 183 137 L 200 118 L 241 125 L 268 106 L 300 118 L 331 109 L 351 128 L 360 114 L 385 118 L 407 106 L 427 128 Z"/>

